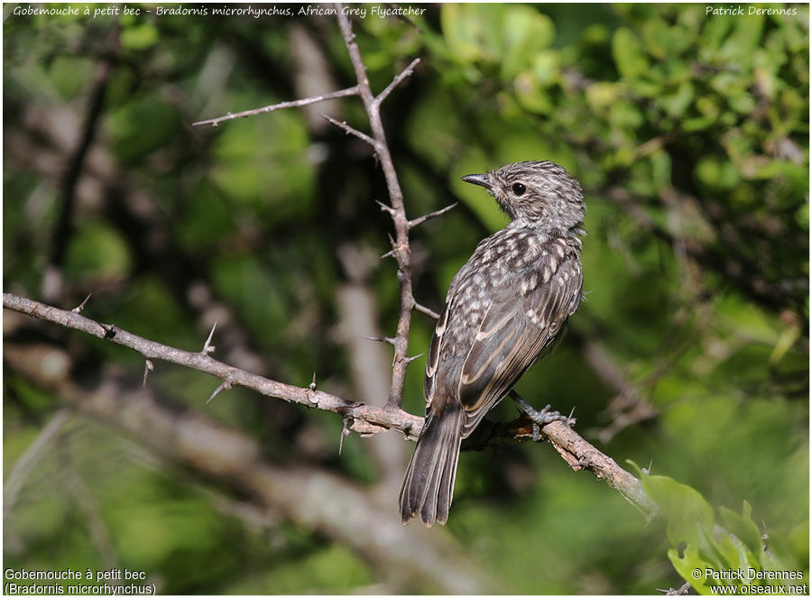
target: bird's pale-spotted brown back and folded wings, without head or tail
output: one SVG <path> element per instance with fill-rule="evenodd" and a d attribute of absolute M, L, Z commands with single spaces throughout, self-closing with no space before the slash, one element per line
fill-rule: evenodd
<path fill-rule="evenodd" d="M 502 391 L 500 381 L 521 375 L 577 308 L 580 248 L 577 235 L 550 236 L 510 225 L 476 247 L 451 281 L 446 308 L 429 346 L 427 409 L 444 385 L 444 391 L 459 396 L 470 409 L 500 398 L 494 397 L 494 392 Z M 532 354 L 511 355 L 516 347 L 526 347 Z M 503 355 L 494 360 L 485 351 Z M 490 364 L 500 363 L 521 371 L 507 377 L 489 371 Z M 485 381 L 494 382 L 494 387 Z M 473 429 L 479 419 L 466 428 Z"/>

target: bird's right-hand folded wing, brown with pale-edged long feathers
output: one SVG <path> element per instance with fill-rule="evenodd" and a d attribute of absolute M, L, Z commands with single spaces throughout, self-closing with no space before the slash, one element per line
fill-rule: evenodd
<path fill-rule="evenodd" d="M 459 380 L 467 413 L 463 437 L 511 390 L 577 308 L 582 281 L 577 256 L 557 265 L 547 281 L 539 280 L 525 294 L 495 298 L 485 314 Z"/>

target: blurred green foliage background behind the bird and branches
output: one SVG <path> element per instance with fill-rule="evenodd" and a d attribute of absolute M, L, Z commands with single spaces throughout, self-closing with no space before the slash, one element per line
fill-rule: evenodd
<path fill-rule="evenodd" d="M 208 330 L 189 288 L 205 281 L 268 375 L 307 385 L 316 371 L 319 388 L 355 396 L 337 334 L 346 281 L 337 247 L 384 253 L 391 227 L 374 205 L 386 190 L 368 149 L 301 110 L 190 126 L 300 97 L 294 28 L 316 42 L 330 87 L 353 85 L 334 21 L 23 16 L 15 6 L 4 5 L 5 290 L 42 298 L 55 263 L 61 307 L 92 291 L 89 317 L 197 348 Z M 769 5 L 790 14 L 752 5 L 743 16 L 706 5 L 420 7 L 408 19 L 355 23 L 375 89 L 422 58 L 383 106 L 409 215 L 460 201 L 413 233 L 418 300 L 438 308 L 475 244 L 505 223 L 461 175 L 519 160 L 564 165 L 586 193 L 587 299 L 518 390 L 538 405 L 577 405 L 577 429 L 619 463 L 653 461 L 654 473 L 687 484 L 647 477 L 655 500 L 698 514 L 688 535 L 693 520 L 665 507 L 665 520 L 645 526 L 549 447 L 521 446 L 462 456 L 450 532 L 504 593 L 652 593 L 678 587 L 699 563 L 807 571 L 808 5 Z M 55 254 L 69 156 L 104 64 L 96 138 Z M 356 99 L 337 109 L 365 128 Z M 392 262 L 367 284 L 392 333 Z M 411 354 L 425 352 L 432 327 L 415 314 Z M 65 338 L 84 363 L 119 363 L 140 384 L 137 354 Z M 217 354 L 224 343 L 216 338 Z M 595 344 L 625 391 L 586 359 Z M 415 412 L 423 364 L 407 380 L 404 407 Z M 307 456 L 374 481 L 363 439 L 335 455 L 335 416 L 241 391 L 204 406 L 212 382 L 165 364 L 150 381 L 259 438 L 274 458 Z M 635 400 L 653 415 L 635 419 Z M 60 400 L 8 375 L 4 407 L 7 476 Z M 77 419 L 61 442 L 69 450 L 49 452 L 5 516 L 5 566 L 106 568 L 78 499 L 62 490 L 74 471 L 117 562 L 160 579 L 163 593 L 390 589 L 387 572 L 307 529 L 246 526 L 217 508 L 220 491 L 155 465 L 112 431 Z M 715 521 L 735 538 L 711 534 Z M 786 538 L 774 562 L 755 539 L 764 533 Z M 425 589 L 415 580 L 411 591 Z"/>

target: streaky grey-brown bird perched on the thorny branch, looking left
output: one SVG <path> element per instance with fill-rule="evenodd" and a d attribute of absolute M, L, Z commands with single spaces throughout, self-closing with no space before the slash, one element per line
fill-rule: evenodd
<path fill-rule="evenodd" d="M 452 279 L 426 363 L 426 417 L 399 497 L 403 525 L 444 525 L 460 445 L 546 354 L 581 302 L 586 204 L 567 170 L 520 161 L 462 177 L 510 219 Z M 543 410 L 542 410 L 543 413 Z"/>

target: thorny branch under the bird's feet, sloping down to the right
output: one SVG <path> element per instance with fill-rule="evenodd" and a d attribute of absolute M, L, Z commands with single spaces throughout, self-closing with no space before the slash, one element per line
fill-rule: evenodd
<path fill-rule="evenodd" d="M 248 373 L 226 363 L 218 362 L 208 354 L 199 351 L 184 351 L 176 347 L 161 345 L 113 325 L 104 325 L 96 320 L 79 315 L 73 311 L 53 308 L 32 299 L 3 294 L 3 307 L 32 317 L 60 324 L 61 326 L 85 332 L 91 336 L 105 339 L 115 345 L 122 345 L 137 351 L 148 360 L 161 360 L 178 363 L 186 367 L 209 373 L 219 378 L 220 390 L 233 386 L 242 386 L 269 397 L 300 403 L 307 407 L 338 413 L 348 422 L 347 428 L 362 436 L 377 434 L 386 429 L 401 432 L 403 436 L 416 440 L 420 435 L 423 419 L 406 411 L 387 406 L 374 407 L 352 400 L 342 399 L 328 392 L 306 387 L 300 388 L 275 380 Z M 221 388 L 222 387 L 222 388 Z M 598 479 L 604 480 L 623 497 L 651 517 L 657 508 L 642 491 L 640 481 L 632 474 L 618 466 L 614 460 L 601 453 L 580 437 L 575 430 L 560 421 L 550 422 L 541 428 L 541 433 L 555 446 L 558 454 L 576 471 L 589 469 Z M 473 437 L 464 447 L 468 450 L 479 450 L 489 446 L 504 446 L 530 440 L 533 437 L 528 419 L 517 419 L 506 424 L 489 424 L 484 422 L 477 428 Z"/>

